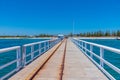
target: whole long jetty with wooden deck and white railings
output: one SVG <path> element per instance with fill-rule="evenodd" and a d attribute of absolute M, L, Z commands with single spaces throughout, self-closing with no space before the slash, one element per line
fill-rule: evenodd
<path fill-rule="evenodd" d="M 61 35 L 0 49 L 0 54 L 10 52 L 15 56 L 14 60 L 0 65 L 0 80 L 119 80 L 120 68 L 105 59 L 106 50 L 120 55 L 119 49 Z"/>

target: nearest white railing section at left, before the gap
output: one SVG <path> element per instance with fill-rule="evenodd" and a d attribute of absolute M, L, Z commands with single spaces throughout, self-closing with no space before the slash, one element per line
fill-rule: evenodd
<path fill-rule="evenodd" d="M 10 76 L 11 74 L 15 73 L 16 71 L 18 71 L 21 68 L 21 65 L 20 65 L 21 64 L 20 63 L 21 62 L 20 46 L 15 46 L 15 47 L 10 47 L 10 48 L 0 49 L 0 54 L 4 54 L 5 52 L 9 52 L 9 51 L 13 51 L 13 50 L 16 50 L 16 59 L 13 60 L 13 61 L 10 61 L 9 63 L 6 63 L 6 64 L 0 66 L 0 70 L 4 69 L 4 68 L 6 68 L 6 67 L 8 67 L 8 66 L 10 66 L 10 65 L 12 65 L 14 63 L 17 63 L 16 64 L 17 67 L 13 71 L 7 73 L 5 76 L 0 77 L 0 80 L 3 80 L 5 78 L 7 78 L 8 76 Z"/>

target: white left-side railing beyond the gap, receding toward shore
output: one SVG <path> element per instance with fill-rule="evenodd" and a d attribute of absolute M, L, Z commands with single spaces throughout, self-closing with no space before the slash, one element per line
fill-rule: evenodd
<path fill-rule="evenodd" d="M 40 56 L 42 53 L 46 52 L 48 49 L 50 49 L 51 47 L 53 47 L 55 44 L 57 44 L 60 41 L 60 39 L 53 39 L 53 40 L 46 40 L 46 41 L 40 41 L 40 42 L 36 42 L 36 43 L 31 43 L 31 44 L 25 44 L 22 47 L 22 64 L 23 66 L 25 66 L 26 64 L 30 63 L 31 61 L 33 61 L 35 58 L 37 58 L 38 56 Z M 35 50 L 35 46 L 38 46 L 38 48 Z M 30 52 L 27 53 L 27 47 L 30 47 Z M 37 55 L 35 55 L 35 53 L 37 53 Z M 26 60 L 27 57 L 30 57 L 29 60 Z"/>

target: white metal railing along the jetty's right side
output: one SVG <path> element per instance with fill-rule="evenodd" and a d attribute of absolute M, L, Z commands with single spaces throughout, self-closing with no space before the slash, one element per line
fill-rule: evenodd
<path fill-rule="evenodd" d="M 120 75 L 120 69 L 116 66 L 114 66 L 113 64 L 111 64 L 110 62 L 108 62 L 107 60 L 104 59 L 104 50 L 108 50 L 111 52 L 115 52 L 117 54 L 120 54 L 120 50 L 119 49 L 115 49 L 115 48 L 111 48 L 108 46 L 104 46 L 104 45 L 99 45 L 96 43 L 92 43 L 92 42 L 87 42 L 84 40 L 79 40 L 76 38 L 73 38 L 72 41 L 80 48 L 80 50 L 91 60 L 93 61 L 94 64 L 97 65 L 97 67 L 103 71 L 104 74 L 106 74 L 107 77 L 109 77 L 109 79 L 111 80 L 116 80 L 107 70 L 104 69 L 104 64 L 106 64 L 107 66 L 109 66 L 112 70 L 114 70 L 116 73 L 118 73 Z M 90 49 L 87 48 L 87 45 L 90 46 Z M 93 52 L 93 46 L 96 46 L 98 48 L 100 48 L 100 55 L 96 55 L 96 53 Z M 87 54 L 87 52 L 90 53 L 90 55 Z M 97 63 L 94 59 L 93 56 L 95 56 L 97 59 L 100 60 L 100 64 Z"/>

